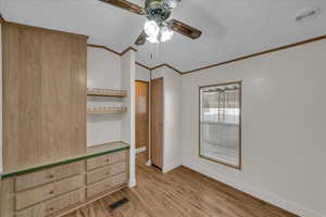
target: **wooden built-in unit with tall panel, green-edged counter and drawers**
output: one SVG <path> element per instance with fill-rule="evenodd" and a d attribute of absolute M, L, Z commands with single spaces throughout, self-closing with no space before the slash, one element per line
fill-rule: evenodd
<path fill-rule="evenodd" d="M 87 36 L 4 22 L 2 56 L 0 216 L 57 217 L 126 187 L 129 145 L 87 148 Z"/>

